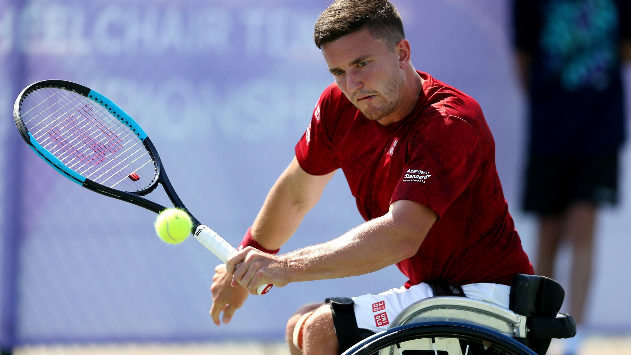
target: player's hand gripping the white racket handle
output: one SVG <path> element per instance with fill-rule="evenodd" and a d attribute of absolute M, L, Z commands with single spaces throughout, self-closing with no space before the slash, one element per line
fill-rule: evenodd
<path fill-rule="evenodd" d="M 235 251 L 226 262 L 226 271 L 232 274 L 232 287 L 245 287 L 251 294 L 263 284 L 283 287 L 288 284 L 288 262 L 283 256 L 271 255 L 247 246 Z"/>

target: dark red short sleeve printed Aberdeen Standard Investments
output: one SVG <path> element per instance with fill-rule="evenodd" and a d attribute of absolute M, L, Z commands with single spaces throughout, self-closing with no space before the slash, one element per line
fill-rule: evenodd
<path fill-rule="evenodd" d="M 480 138 L 462 119 L 435 117 L 420 129 L 411 145 L 410 160 L 404 165 L 391 203 L 422 203 L 440 218 L 480 175 Z"/>

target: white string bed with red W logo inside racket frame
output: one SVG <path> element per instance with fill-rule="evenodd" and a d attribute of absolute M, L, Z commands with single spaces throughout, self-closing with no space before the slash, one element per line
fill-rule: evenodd
<path fill-rule="evenodd" d="M 38 88 L 28 95 L 37 104 L 30 108 L 25 105 L 25 126 L 35 131 L 33 138 L 69 169 L 124 191 L 144 190 L 155 180 L 153 157 L 133 129 L 110 110 L 64 88 Z M 27 102 L 28 96 L 23 101 Z M 141 179 L 130 179 L 132 172 Z"/>

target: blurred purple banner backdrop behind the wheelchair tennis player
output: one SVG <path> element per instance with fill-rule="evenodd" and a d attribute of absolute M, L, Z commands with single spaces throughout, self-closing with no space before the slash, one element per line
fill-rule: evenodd
<path fill-rule="evenodd" d="M 524 102 L 507 2 L 394 3 L 415 67 L 480 102 L 505 195 L 524 246 L 533 250 L 533 221 L 517 209 Z M 160 243 L 150 212 L 69 183 L 28 151 L 11 120 L 18 88 L 27 83 L 61 78 L 95 88 L 151 136 L 196 216 L 237 244 L 333 81 L 310 38 L 325 7 L 326 1 L 290 0 L 0 0 L 0 77 L 12 83 L 0 88 L 0 255 L 10 266 L 0 297 L 3 319 L 16 320 L 15 331 L 3 323 L 4 342 L 281 340 L 300 304 L 403 284 L 394 267 L 291 284 L 249 298 L 230 325 L 215 327 L 209 286 L 218 260 L 194 239 Z M 624 159 L 631 160 L 628 152 Z M 589 320 L 601 327 L 628 328 L 631 316 L 604 292 L 631 272 L 621 255 L 631 247 L 623 238 L 631 217 L 628 165 L 622 206 L 604 213 L 599 231 Z M 326 241 L 361 222 L 338 174 L 283 250 Z"/>

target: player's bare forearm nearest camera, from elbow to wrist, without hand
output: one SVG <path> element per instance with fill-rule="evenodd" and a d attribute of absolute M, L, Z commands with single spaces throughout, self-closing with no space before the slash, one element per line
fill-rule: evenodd
<path fill-rule="evenodd" d="M 431 226 L 425 225 L 411 228 L 389 212 L 332 241 L 292 251 L 283 255 L 288 282 L 363 275 L 398 263 L 415 255 Z"/>

